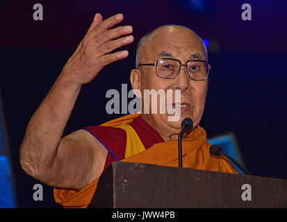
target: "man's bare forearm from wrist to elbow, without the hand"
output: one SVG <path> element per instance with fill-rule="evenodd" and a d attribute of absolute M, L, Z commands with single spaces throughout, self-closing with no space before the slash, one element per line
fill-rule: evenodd
<path fill-rule="evenodd" d="M 20 148 L 20 163 L 29 175 L 37 178 L 53 163 L 80 89 L 61 73 L 33 114 Z"/>

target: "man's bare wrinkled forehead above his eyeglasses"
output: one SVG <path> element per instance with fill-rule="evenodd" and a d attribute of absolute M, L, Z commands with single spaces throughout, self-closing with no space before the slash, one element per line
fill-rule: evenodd
<path fill-rule="evenodd" d="M 181 26 L 165 26 L 155 31 L 147 43 L 146 50 L 149 59 L 161 57 L 163 51 L 183 60 L 195 53 L 204 58 L 202 42 L 197 35 Z"/>

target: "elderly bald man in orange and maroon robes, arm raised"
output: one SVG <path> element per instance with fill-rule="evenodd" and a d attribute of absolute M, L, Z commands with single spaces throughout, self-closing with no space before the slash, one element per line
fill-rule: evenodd
<path fill-rule="evenodd" d="M 199 121 L 210 66 L 202 40 L 183 26 L 161 26 L 142 37 L 136 69 L 131 71 L 131 85 L 142 94 L 145 89 L 180 90 L 179 121 L 168 121 L 167 113 L 129 114 L 62 138 L 82 85 L 92 81 L 106 65 L 128 56 L 125 50 L 111 53 L 133 42 L 131 26 L 112 28 L 122 19 L 122 14 L 104 21 L 99 13 L 95 15 L 26 128 L 20 148 L 22 169 L 44 184 L 57 187 L 56 202 L 65 207 L 87 207 L 99 176 L 113 161 L 177 167 L 177 138 L 186 117 L 194 124 L 184 134 L 183 167 L 236 173 L 224 157 L 208 153 L 210 145 Z"/>

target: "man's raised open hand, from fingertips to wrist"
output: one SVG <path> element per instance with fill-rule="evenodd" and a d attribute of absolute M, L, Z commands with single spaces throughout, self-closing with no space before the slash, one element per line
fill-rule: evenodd
<path fill-rule="evenodd" d="M 129 52 L 114 51 L 133 42 L 131 26 L 118 26 L 122 22 L 122 14 L 113 15 L 103 21 L 101 14 L 97 13 L 74 54 L 69 58 L 63 68 L 63 74 L 79 85 L 89 83 L 106 65 L 122 60 Z M 127 36 L 124 36 L 127 35 Z"/>

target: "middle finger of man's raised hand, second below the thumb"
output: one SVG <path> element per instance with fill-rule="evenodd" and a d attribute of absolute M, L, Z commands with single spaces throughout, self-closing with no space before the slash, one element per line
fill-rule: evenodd
<path fill-rule="evenodd" d="M 132 26 L 120 26 L 117 28 L 109 29 L 108 31 L 97 36 L 96 42 L 108 42 L 110 40 L 115 40 L 117 37 L 122 35 L 128 35 L 132 32 Z"/>

